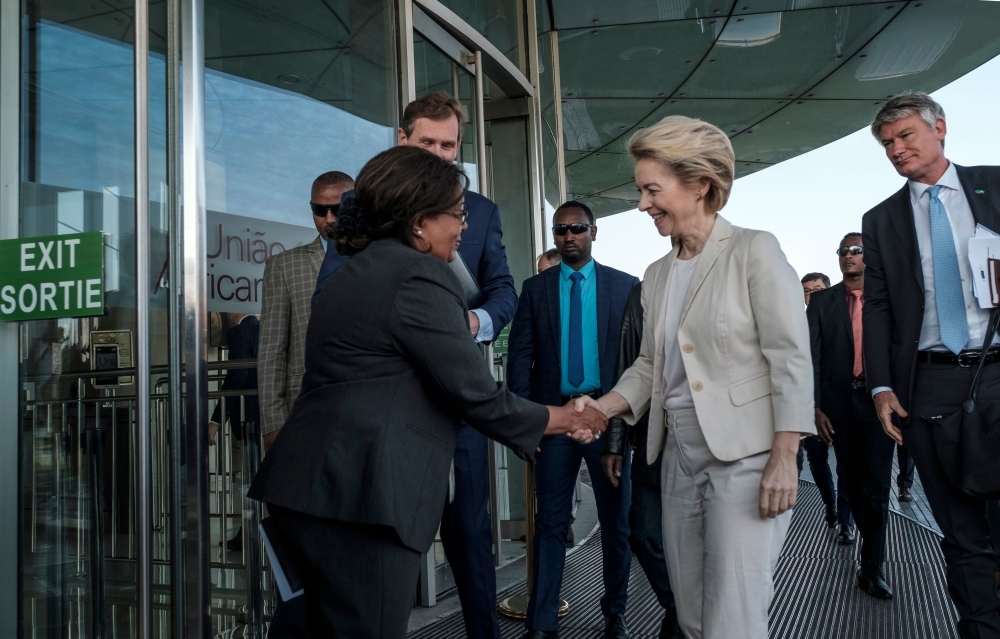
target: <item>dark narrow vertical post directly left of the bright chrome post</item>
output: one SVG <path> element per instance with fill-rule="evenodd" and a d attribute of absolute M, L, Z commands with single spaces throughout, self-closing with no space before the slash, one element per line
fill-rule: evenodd
<path fill-rule="evenodd" d="M 182 633 L 186 619 L 184 586 L 184 413 L 181 386 L 181 348 L 184 268 L 181 231 L 180 192 L 180 0 L 167 0 L 167 251 L 170 266 L 167 279 L 167 383 L 170 433 L 170 626 L 174 637 Z"/>

